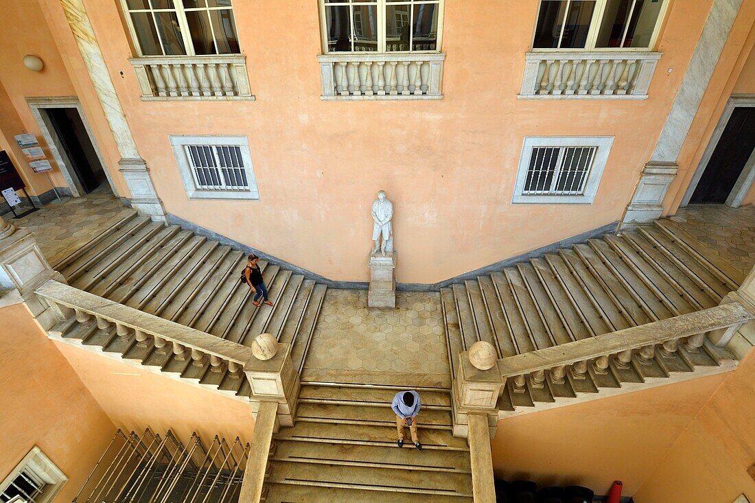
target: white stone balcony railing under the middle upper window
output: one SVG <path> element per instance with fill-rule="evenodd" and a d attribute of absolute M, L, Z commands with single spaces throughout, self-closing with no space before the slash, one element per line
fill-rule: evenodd
<path fill-rule="evenodd" d="M 441 100 L 445 54 L 325 54 L 323 100 Z"/>

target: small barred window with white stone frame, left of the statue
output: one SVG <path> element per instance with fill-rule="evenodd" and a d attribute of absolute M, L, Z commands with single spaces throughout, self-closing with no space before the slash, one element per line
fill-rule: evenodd
<path fill-rule="evenodd" d="M 190 199 L 259 199 L 245 136 L 171 136 Z"/>

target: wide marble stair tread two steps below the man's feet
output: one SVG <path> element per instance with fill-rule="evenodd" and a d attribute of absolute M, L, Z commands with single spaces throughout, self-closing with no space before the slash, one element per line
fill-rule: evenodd
<path fill-rule="evenodd" d="M 398 449 L 398 448 L 396 448 Z M 416 452 L 416 451 L 415 451 Z M 416 452 L 422 455 L 422 452 Z M 398 468 L 337 466 L 271 461 L 270 482 L 350 487 L 384 492 L 419 492 L 427 495 L 472 495 L 468 474 L 411 471 Z"/>

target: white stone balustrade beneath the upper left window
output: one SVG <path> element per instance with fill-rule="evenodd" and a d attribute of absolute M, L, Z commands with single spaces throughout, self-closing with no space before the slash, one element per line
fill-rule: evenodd
<path fill-rule="evenodd" d="M 246 57 L 149 56 L 131 58 L 142 100 L 254 100 Z"/>

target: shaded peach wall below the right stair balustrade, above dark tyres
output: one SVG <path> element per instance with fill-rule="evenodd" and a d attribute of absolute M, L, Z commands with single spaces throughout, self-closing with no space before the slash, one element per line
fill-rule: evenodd
<path fill-rule="evenodd" d="M 725 378 L 713 375 L 498 421 L 495 474 L 541 487 L 578 484 L 596 495 L 608 494 L 613 481 L 621 480 L 622 495 L 633 495 Z"/>

